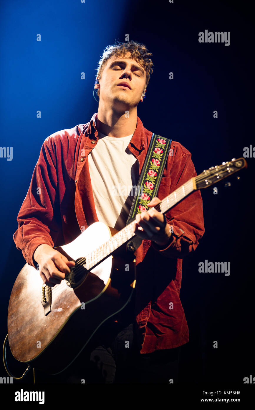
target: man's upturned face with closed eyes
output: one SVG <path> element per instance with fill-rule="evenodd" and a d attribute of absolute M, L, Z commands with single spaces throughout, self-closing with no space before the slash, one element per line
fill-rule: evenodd
<path fill-rule="evenodd" d="M 100 101 L 110 103 L 115 109 L 136 107 L 144 91 L 144 68 L 129 57 L 130 53 L 108 59 L 99 80 Z"/>

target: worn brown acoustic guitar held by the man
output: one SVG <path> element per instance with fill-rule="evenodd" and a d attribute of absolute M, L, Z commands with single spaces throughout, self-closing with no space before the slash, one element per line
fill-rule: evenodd
<path fill-rule="evenodd" d="M 244 158 L 211 167 L 155 208 L 165 214 L 196 189 L 210 187 L 244 167 Z M 99 326 L 126 306 L 135 287 L 134 223 L 117 231 L 95 222 L 70 244 L 55 248 L 75 266 L 54 287 L 45 285 L 39 271 L 25 264 L 8 309 L 9 346 L 17 360 L 58 374 L 77 358 Z"/>

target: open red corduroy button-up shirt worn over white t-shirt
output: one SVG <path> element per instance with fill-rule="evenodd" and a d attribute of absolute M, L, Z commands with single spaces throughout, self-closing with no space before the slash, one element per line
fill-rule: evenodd
<path fill-rule="evenodd" d="M 29 190 L 18 213 L 14 241 L 29 265 L 36 268 L 34 251 L 40 244 L 68 244 L 84 227 L 98 221 L 88 168 L 88 154 L 97 145 L 97 113 L 87 124 L 47 137 L 40 151 Z M 138 117 L 128 145 L 138 159 L 140 172 L 152 132 Z M 169 137 L 169 136 L 167 136 Z M 191 153 L 172 141 L 160 182 L 162 200 L 196 176 Z M 166 213 L 174 236 L 167 247 L 144 239 L 135 252 L 135 322 L 140 353 L 181 346 L 189 330 L 180 301 L 182 258 L 194 251 L 203 236 L 203 205 L 194 191 Z"/>

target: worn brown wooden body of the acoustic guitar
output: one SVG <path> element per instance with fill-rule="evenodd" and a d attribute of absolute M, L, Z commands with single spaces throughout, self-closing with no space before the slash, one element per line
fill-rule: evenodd
<path fill-rule="evenodd" d="M 95 222 L 70 244 L 56 248 L 77 260 L 98 248 L 117 232 Z M 129 264 L 129 271 L 125 270 Z M 25 264 L 11 292 L 8 338 L 20 362 L 49 374 L 66 369 L 86 346 L 97 328 L 120 312 L 135 287 L 135 259 L 119 251 L 95 268 L 84 271 L 78 285 L 62 280 L 44 287 L 33 266 Z M 79 269 L 79 270 L 81 270 Z M 46 296 L 45 296 L 46 288 Z"/>

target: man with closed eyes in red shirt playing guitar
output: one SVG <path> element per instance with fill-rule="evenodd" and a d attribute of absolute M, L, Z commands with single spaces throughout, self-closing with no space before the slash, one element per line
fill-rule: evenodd
<path fill-rule="evenodd" d="M 95 83 L 98 112 L 89 123 L 56 132 L 43 143 L 14 241 L 49 286 L 74 266 L 53 247 L 98 220 L 118 230 L 126 225 L 133 197 L 125 190 L 116 195 L 113 188 L 137 184 L 151 140 L 152 132 L 137 116 L 152 73 L 149 57 L 134 41 L 107 47 Z M 75 372 L 86 383 L 178 380 L 179 349 L 189 340 L 179 298 L 182 258 L 196 249 L 204 226 L 200 191 L 169 210 L 166 220 L 154 208 L 196 175 L 190 152 L 175 141 L 171 148 L 158 197 L 135 217 L 133 232 L 143 241 L 135 252 L 131 303 L 99 328 L 78 359 L 80 369 L 79 363 L 70 367 L 66 380 L 73 381 Z"/>

